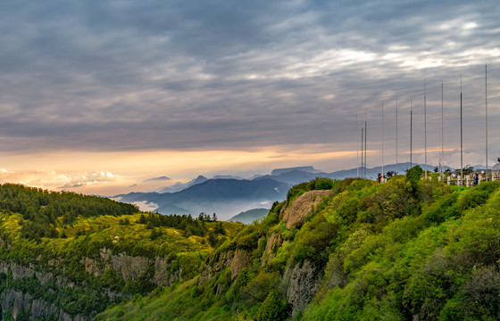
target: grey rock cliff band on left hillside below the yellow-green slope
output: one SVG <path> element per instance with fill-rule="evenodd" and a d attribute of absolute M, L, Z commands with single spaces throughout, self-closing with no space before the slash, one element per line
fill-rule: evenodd
<path fill-rule="evenodd" d="M 182 269 L 171 271 L 171 263 L 166 258 L 156 257 L 147 259 L 140 256 L 129 256 L 125 253 L 112 254 L 110 249 L 101 249 L 99 259 L 82 258 L 80 263 L 85 266 L 87 273 L 101 276 L 106 269 L 114 269 L 125 280 L 135 280 L 144 275 L 147 268 L 154 266 L 154 276 L 151 282 L 156 285 L 169 286 L 182 281 Z"/>

